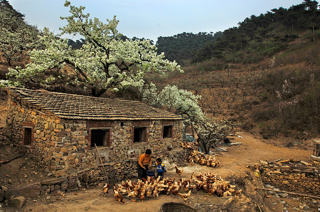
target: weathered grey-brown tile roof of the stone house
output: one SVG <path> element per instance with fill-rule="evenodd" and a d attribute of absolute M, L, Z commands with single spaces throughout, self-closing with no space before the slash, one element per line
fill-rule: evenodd
<path fill-rule="evenodd" d="M 65 119 L 160 120 L 182 119 L 142 102 L 7 87 L 8 93 Z"/>

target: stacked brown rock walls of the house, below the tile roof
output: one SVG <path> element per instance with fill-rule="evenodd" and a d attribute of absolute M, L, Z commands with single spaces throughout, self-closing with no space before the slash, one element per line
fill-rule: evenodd
<path fill-rule="evenodd" d="M 153 151 L 153 155 L 167 152 L 168 147 L 172 148 L 173 155 L 181 154 L 179 144 L 182 140 L 182 120 L 180 119 L 103 121 L 62 119 L 16 98 L 9 98 L 7 111 L 8 129 L 16 143 L 26 145 L 25 137 L 29 136 L 31 129 L 28 151 L 33 159 L 53 176 L 67 176 L 77 171 L 94 170 L 99 167 L 100 159 L 92 141 L 94 130 L 106 133 L 106 141 L 99 147 L 99 152 L 104 163 L 113 164 L 107 166 L 110 166 L 109 177 L 115 181 L 124 176 L 136 176 L 137 157 L 147 148 Z M 165 126 L 170 127 L 169 138 L 163 138 Z M 135 128 L 143 130 L 143 138 L 139 142 L 134 142 Z"/>

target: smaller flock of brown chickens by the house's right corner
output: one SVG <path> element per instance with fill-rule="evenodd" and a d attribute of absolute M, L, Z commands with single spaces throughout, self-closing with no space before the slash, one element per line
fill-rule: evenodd
<path fill-rule="evenodd" d="M 199 143 L 195 141 L 196 145 L 198 146 Z M 188 148 L 190 149 L 190 156 L 188 157 L 188 161 L 193 163 L 200 163 L 201 165 L 207 165 L 207 166 L 220 166 L 220 162 L 215 159 L 215 157 L 212 158 L 212 156 L 205 156 L 204 153 L 201 153 L 197 150 L 193 150 L 193 147 L 196 147 L 192 142 L 181 142 L 182 148 Z M 193 150 L 193 151 L 192 151 Z"/>

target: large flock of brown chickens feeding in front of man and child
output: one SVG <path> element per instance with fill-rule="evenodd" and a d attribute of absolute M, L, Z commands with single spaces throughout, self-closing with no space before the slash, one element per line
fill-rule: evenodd
<path fill-rule="evenodd" d="M 198 175 L 192 173 L 190 180 L 186 178 L 180 178 L 179 180 L 180 181 L 176 182 L 174 178 L 173 180 L 169 178 L 160 180 L 160 177 L 156 179 L 150 177 L 148 180 L 144 178 L 142 178 L 142 180 L 138 179 L 137 183 L 131 180 L 126 180 L 126 183 L 122 181 L 122 184 L 118 184 L 117 188 L 113 186 L 114 197 L 118 203 L 124 203 L 124 195 L 131 197 L 132 201 L 136 201 L 135 198 L 138 197 L 143 202 L 144 199 L 148 200 L 151 196 L 153 196 L 154 199 L 158 199 L 160 193 L 167 195 L 172 193 L 172 195 L 180 195 L 184 202 L 186 202 L 194 188 L 196 188 L 198 192 L 204 190 L 210 195 L 216 194 L 218 196 L 232 195 L 233 192 L 235 192 L 235 195 L 241 193 L 241 190 L 235 191 L 235 186 L 230 185 L 230 182 L 218 178 L 210 172 L 206 174 L 199 173 Z M 103 193 L 108 193 L 108 186 L 108 184 L 104 186 Z M 180 193 L 181 189 L 183 189 L 185 193 Z"/>

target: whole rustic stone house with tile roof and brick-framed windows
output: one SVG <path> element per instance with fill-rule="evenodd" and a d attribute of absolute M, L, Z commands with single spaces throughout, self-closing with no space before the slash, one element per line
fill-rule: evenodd
<path fill-rule="evenodd" d="M 137 101 L 16 87 L 7 92 L 7 129 L 53 176 L 98 169 L 95 145 L 108 170 L 119 168 L 114 174 L 122 178 L 134 176 L 147 148 L 154 155 L 181 154 L 183 119 L 173 113 Z"/>

